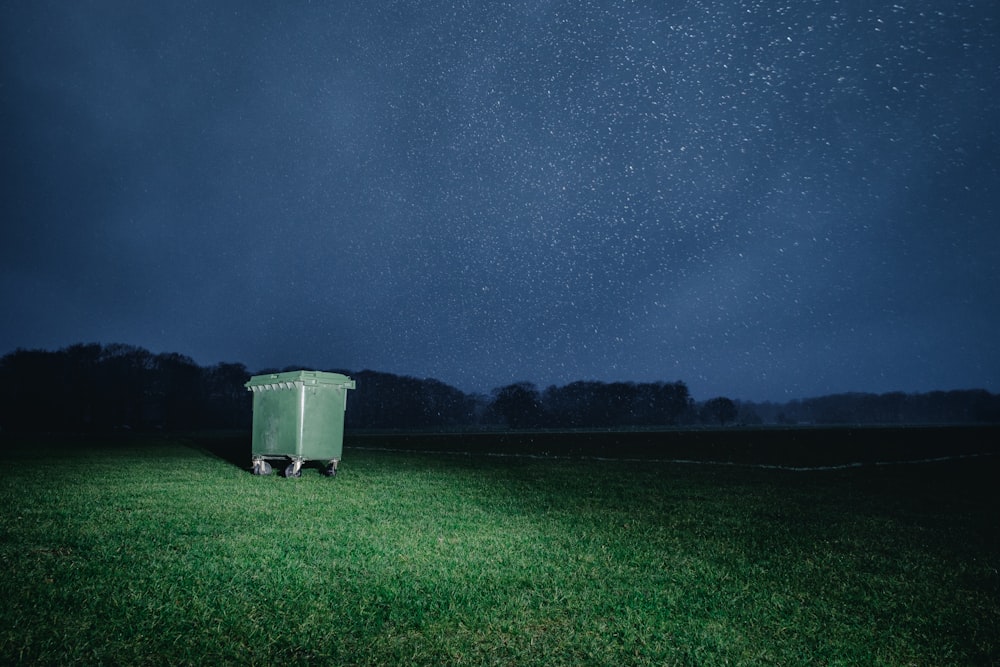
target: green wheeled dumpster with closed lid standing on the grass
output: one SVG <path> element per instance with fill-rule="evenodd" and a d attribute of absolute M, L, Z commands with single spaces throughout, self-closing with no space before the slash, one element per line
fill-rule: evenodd
<path fill-rule="evenodd" d="M 305 461 L 327 461 L 337 474 L 344 450 L 344 410 L 354 380 L 340 373 L 291 371 L 255 375 L 252 460 L 255 475 L 268 475 L 268 459 L 290 460 L 285 477 L 299 477 Z"/>

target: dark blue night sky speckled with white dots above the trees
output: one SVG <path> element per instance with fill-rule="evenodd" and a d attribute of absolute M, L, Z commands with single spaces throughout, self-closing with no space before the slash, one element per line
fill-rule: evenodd
<path fill-rule="evenodd" d="M 1000 391 L 992 0 L 0 1 L 0 353 Z"/>

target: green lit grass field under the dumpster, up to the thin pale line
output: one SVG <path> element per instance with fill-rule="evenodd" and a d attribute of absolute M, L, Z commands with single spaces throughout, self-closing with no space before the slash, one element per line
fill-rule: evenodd
<path fill-rule="evenodd" d="M 992 458 L 845 471 L 9 447 L 0 663 L 1000 661 Z"/>

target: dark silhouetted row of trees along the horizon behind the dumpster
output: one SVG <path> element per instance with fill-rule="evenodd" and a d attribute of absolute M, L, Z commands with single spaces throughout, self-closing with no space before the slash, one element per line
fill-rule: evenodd
<path fill-rule="evenodd" d="M 18 349 L 0 357 L 0 430 L 249 429 L 251 373 L 241 363 L 199 366 L 177 353 L 124 344 Z M 787 403 L 718 396 L 695 401 L 684 382 L 579 381 L 539 389 L 517 382 L 467 394 L 434 379 L 363 370 L 350 375 L 348 429 L 573 429 L 758 424 L 995 423 L 985 390 L 836 394 Z"/>

